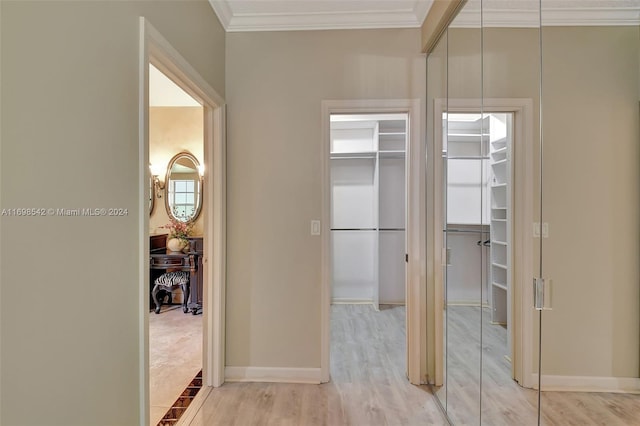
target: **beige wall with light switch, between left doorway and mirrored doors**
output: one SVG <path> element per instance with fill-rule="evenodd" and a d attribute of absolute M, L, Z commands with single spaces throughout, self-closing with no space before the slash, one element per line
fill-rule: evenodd
<path fill-rule="evenodd" d="M 420 30 L 227 43 L 227 365 L 319 368 L 320 238 L 309 230 L 321 217 L 320 104 L 423 98 Z"/>

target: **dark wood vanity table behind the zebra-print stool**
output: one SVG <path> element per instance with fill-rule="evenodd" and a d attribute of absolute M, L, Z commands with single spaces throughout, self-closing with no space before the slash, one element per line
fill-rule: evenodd
<path fill-rule="evenodd" d="M 193 315 L 202 313 L 203 238 L 189 238 L 189 251 L 171 252 L 166 248 L 167 235 L 151 235 L 149 242 L 150 293 L 155 279 L 168 270 L 189 272 L 188 308 Z M 151 299 L 151 303 L 153 303 Z M 150 305 L 151 306 L 151 305 Z"/>

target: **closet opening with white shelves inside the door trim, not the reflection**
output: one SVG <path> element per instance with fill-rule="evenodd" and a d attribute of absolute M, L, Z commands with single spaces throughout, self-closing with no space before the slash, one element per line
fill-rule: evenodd
<path fill-rule="evenodd" d="M 407 124 L 406 113 L 330 117 L 334 381 L 406 374 Z"/>

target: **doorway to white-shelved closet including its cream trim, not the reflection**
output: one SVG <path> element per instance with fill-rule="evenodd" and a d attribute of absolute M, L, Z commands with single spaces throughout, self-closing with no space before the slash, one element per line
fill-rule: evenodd
<path fill-rule="evenodd" d="M 366 355 L 361 362 L 351 358 L 358 369 L 353 374 L 367 363 L 378 368 L 367 357 L 375 357 L 376 345 L 386 341 L 393 354 L 381 356 L 397 359 L 397 370 L 388 368 L 390 359 L 380 369 L 424 383 L 420 102 L 323 101 L 322 106 L 321 381 L 351 374 L 344 356 Z M 351 350 L 356 333 L 373 338 L 367 344 L 362 337 L 360 349 Z"/>

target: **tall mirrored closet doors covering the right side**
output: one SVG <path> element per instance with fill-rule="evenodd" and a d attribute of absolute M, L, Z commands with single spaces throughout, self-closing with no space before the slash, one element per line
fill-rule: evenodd
<path fill-rule="evenodd" d="M 560 3 L 462 2 L 427 57 L 453 424 L 640 415 L 640 3 Z"/>

